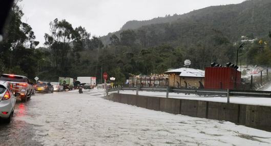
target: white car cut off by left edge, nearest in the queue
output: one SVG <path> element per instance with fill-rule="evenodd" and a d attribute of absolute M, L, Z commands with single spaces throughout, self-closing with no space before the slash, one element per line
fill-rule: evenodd
<path fill-rule="evenodd" d="M 16 97 L 8 81 L 0 81 L 0 117 L 5 123 L 9 123 L 14 112 Z"/>

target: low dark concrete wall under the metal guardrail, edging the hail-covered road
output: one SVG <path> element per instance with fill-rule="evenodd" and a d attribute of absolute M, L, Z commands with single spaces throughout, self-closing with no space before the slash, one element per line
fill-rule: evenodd
<path fill-rule="evenodd" d="M 231 121 L 271 131 L 271 107 L 112 93 L 105 99 L 141 108 Z"/>

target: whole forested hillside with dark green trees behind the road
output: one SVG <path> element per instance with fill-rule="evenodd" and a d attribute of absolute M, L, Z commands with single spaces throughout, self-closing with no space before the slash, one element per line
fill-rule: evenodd
<path fill-rule="evenodd" d="M 96 76 L 108 72 L 123 83 L 131 74 L 160 74 L 183 67 L 204 69 L 211 62 L 235 63 L 240 36 L 258 37 L 240 50 L 242 64 L 270 66 L 271 1 L 213 6 L 183 15 L 131 21 L 120 31 L 91 37 L 84 27 L 74 28 L 57 18 L 45 32 L 45 48 L 35 48 L 34 32 L 20 21 L 19 7 L 7 26 L 9 39 L 0 43 L 1 72 L 56 81 L 58 76 Z M 165 22 L 165 23 L 164 23 Z M 155 23 L 155 24 L 153 24 Z M 270 35 L 271 36 L 271 35 Z M 19 58 L 19 59 L 18 59 Z M 239 62 L 238 62 L 239 64 Z"/>

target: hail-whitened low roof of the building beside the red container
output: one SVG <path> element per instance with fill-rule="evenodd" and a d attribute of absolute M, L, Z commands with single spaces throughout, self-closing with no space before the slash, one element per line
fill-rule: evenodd
<path fill-rule="evenodd" d="M 179 74 L 183 77 L 204 77 L 205 71 L 192 68 L 179 68 L 170 71 L 166 71 L 165 74 Z"/>

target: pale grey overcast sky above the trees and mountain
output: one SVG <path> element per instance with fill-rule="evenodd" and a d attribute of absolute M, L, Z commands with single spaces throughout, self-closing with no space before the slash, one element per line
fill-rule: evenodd
<path fill-rule="evenodd" d="M 0 0 L 2 1 L 2 0 Z M 19 5 L 35 32 L 39 46 L 49 23 L 66 19 L 73 27 L 82 26 L 91 35 L 102 36 L 119 30 L 129 20 L 146 20 L 166 14 L 183 14 L 208 6 L 238 4 L 244 0 L 23 0 Z"/>

